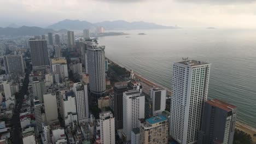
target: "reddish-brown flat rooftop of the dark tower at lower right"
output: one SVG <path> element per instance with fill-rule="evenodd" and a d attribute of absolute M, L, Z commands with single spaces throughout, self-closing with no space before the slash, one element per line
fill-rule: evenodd
<path fill-rule="evenodd" d="M 232 109 L 236 109 L 236 106 L 230 105 L 218 99 L 207 100 L 205 103 L 210 104 L 212 106 L 219 107 L 220 109 L 223 109 L 225 111 L 231 111 Z"/>

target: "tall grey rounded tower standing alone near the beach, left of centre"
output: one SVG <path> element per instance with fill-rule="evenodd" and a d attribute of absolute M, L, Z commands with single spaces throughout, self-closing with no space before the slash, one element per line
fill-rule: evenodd
<path fill-rule="evenodd" d="M 104 46 L 98 46 L 98 44 L 95 43 L 88 45 L 88 72 L 90 76 L 90 92 L 96 95 L 104 95 L 106 91 L 104 49 Z"/>

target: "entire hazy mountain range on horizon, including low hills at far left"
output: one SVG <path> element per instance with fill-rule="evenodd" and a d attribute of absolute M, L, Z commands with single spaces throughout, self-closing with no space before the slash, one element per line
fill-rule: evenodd
<path fill-rule="evenodd" d="M 88 21 L 79 21 L 79 20 L 63 20 L 53 25 L 50 25 L 46 28 L 41 27 L 28 27 L 22 26 L 18 27 L 15 23 L 11 23 L 9 27 L 2 28 L 0 27 L 0 35 L 42 35 L 51 33 L 66 33 L 68 30 L 82 30 L 85 28 L 91 29 L 102 26 L 104 29 L 113 30 L 113 29 L 171 29 L 178 28 L 172 26 L 161 26 L 155 23 L 150 22 L 127 22 L 123 20 L 119 21 L 103 21 L 97 23 L 90 23 Z M 60 30 L 59 30 L 60 29 Z M 57 31 L 59 30 L 59 31 Z"/>

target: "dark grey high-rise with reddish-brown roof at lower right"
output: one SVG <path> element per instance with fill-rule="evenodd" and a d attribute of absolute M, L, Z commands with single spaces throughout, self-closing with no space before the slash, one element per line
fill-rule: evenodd
<path fill-rule="evenodd" d="M 213 99 L 205 102 L 202 129 L 197 143 L 232 144 L 236 125 L 236 106 Z"/>

